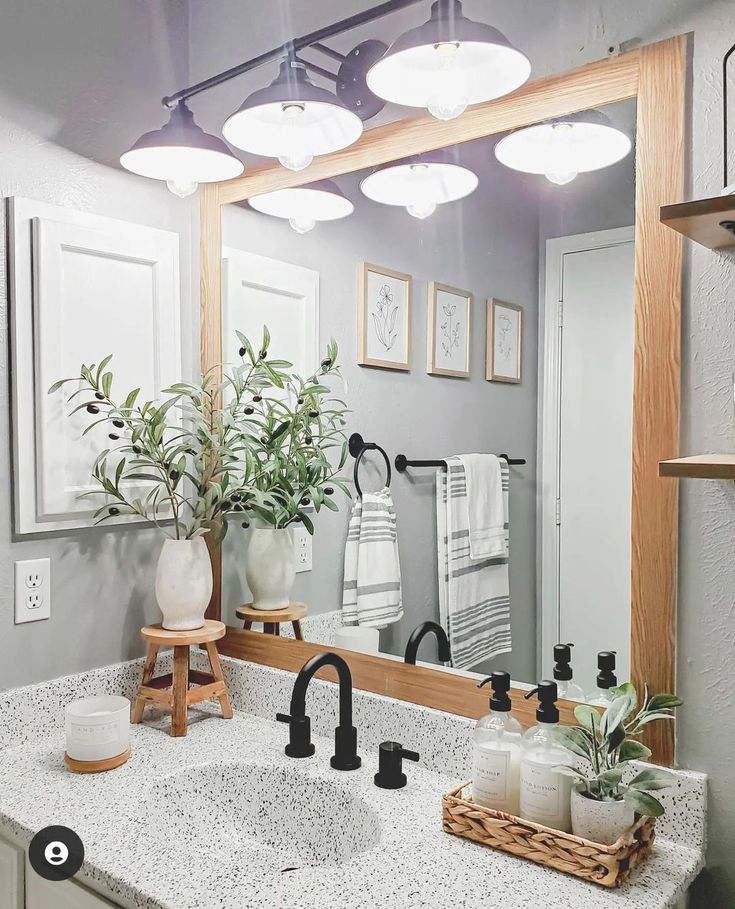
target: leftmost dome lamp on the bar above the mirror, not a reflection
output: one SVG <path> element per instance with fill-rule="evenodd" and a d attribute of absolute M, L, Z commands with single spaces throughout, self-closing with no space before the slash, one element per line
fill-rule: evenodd
<path fill-rule="evenodd" d="M 230 180 L 245 169 L 221 139 L 197 126 L 185 101 L 173 108 L 168 123 L 121 155 L 120 164 L 141 177 L 165 180 L 181 198 L 196 192 L 199 183 Z"/>

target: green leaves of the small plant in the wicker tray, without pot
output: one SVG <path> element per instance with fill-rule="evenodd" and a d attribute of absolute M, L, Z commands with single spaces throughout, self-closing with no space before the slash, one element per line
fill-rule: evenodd
<path fill-rule="evenodd" d="M 651 757 L 650 749 L 638 741 L 645 728 L 659 720 L 671 720 L 674 709 L 683 702 L 673 694 L 650 696 L 646 689 L 638 709 L 638 693 L 630 682 L 612 688 L 610 694 L 612 701 L 602 715 L 590 704 L 579 704 L 574 715 L 580 725 L 559 726 L 555 730 L 557 741 L 581 758 L 584 766 L 584 770 L 571 765 L 556 769 L 571 776 L 578 791 L 587 798 L 624 799 L 638 814 L 660 817 L 663 805 L 651 793 L 671 786 L 674 775 L 660 767 L 650 767 L 623 783 L 623 774 L 630 761 Z"/>

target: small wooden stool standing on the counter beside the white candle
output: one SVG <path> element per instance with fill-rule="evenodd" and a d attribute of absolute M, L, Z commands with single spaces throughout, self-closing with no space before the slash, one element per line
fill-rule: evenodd
<path fill-rule="evenodd" d="M 186 735 L 186 711 L 189 705 L 214 698 L 220 703 L 222 716 L 226 720 L 232 719 L 232 707 L 222 676 L 222 664 L 214 643 L 224 637 L 224 623 L 207 619 L 202 628 L 195 628 L 193 631 L 166 631 L 160 625 L 147 625 L 140 629 L 140 633 L 143 640 L 148 642 L 148 653 L 143 667 L 140 691 L 133 707 L 133 723 L 140 723 L 143 719 L 143 711 L 147 704 L 158 704 L 159 707 L 171 711 L 171 735 Z M 189 648 L 196 644 L 204 644 L 212 667 L 211 674 L 189 668 Z M 174 671 L 154 679 L 156 658 L 161 647 L 173 647 Z M 192 682 L 199 687 L 189 687 Z"/>

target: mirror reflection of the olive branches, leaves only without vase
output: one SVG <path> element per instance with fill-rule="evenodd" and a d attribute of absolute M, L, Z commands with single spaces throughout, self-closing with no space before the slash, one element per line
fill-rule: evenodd
<path fill-rule="evenodd" d="M 247 368 L 257 362 L 257 355 L 244 335 L 238 332 L 238 338 Z M 269 391 L 253 401 L 253 413 L 242 430 L 245 465 L 236 494 L 269 527 L 302 523 L 313 533 L 306 509 L 338 511 L 335 491 L 349 495 L 339 476 L 348 455 L 347 407 L 325 384 L 340 374 L 337 354 L 332 340 L 314 375 L 271 376 Z M 338 452 L 335 464 L 332 452 Z"/>

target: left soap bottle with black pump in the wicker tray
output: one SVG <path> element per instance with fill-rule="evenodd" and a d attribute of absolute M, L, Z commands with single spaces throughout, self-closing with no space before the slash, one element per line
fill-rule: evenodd
<path fill-rule="evenodd" d="M 511 716 L 510 675 L 493 672 L 477 686 L 490 682 L 490 713 L 477 721 L 472 754 L 472 798 L 486 808 L 518 814 L 521 724 Z"/>

